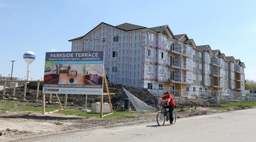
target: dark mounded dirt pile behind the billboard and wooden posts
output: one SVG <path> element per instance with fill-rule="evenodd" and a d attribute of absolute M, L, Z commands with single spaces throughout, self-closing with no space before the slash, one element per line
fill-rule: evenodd
<path fill-rule="evenodd" d="M 158 99 L 154 97 L 147 89 L 137 89 L 133 87 L 126 87 L 122 84 L 114 84 L 109 82 L 108 88 L 110 93 L 115 93 L 115 95 L 111 95 L 111 102 L 114 109 L 124 109 L 124 102 L 123 99 L 126 97 L 123 92 L 122 88 L 125 88 L 127 91 L 132 93 L 135 97 L 137 97 L 139 100 L 144 101 L 147 105 L 156 107 L 158 103 Z M 37 89 L 37 83 L 36 82 L 30 82 L 27 84 L 27 92 L 26 92 L 26 101 L 28 102 L 35 102 L 36 98 L 36 89 Z M 0 91 L 1 94 L 3 94 L 3 91 Z M 106 92 L 105 86 L 103 89 L 103 92 Z M 12 98 L 13 89 L 6 89 L 6 98 L 7 99 L 13 99 Z M 17 87 L 15 89 L 15 99 L 18 101 L 24 101 L 24 86 Z M 46 95 L 46 100 L 49 100 L 50 95 Z M 60 100 L 65 100 L 65 94 L 58 94 Z M 42 83 L 39 84 L 39 95 L 38 98 L 42 97 Z M 53 98 L 55 96 L 53 95 Z M 87 104 L 90 107 L 92 103 L 100 102 L 100 96 L 99 95 L 88 95 L 87 98 Z M 108 96 L 104 95 L 103 102 L 109 102 Z M 69 94 L 68 95 L 68 106 L 80 106 L 83 107 L 86 104 L 86 95 L 77 95 L 77 94 Z M 134 109 L 134 107 L 131 105 L 131 108 Z"/>

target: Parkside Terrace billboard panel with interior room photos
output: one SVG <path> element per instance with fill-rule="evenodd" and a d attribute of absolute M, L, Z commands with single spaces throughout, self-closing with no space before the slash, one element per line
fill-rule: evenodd
<path fill-rule="evenodd" d="M 43 93 L 103 93 L 103 51 L 46 52 Z"/>

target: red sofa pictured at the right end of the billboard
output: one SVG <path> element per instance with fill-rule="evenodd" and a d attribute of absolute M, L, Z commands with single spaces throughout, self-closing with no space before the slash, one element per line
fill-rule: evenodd
<path fill-rule="evenodd" d="M 83 81 L 84 84 L 102 85 L 103 77 L 98 74 L 84 74 Z"/>

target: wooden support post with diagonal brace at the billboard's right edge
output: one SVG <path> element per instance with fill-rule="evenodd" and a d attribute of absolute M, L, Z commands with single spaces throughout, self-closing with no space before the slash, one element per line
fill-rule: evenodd
<path fill-rule="evenodd" d="M 113 114 L 113 108 L 112 108 L 110 95 L 115 95 L 115 93 L 110 93 L 109 92 L 108 81 L 106 80 L 106 74 L 105 74 L 105 69 L 104 68 L 103 68 L 103 77 L 104 77 L 104 82 L 105 82 L 105 86 L 106 86 L 106 93 L 102 93 L 101 96 L 100 96 L 100 118 L 103 118 L 104 116 L 108 116 L 108 115 Z M 106 114 L 104 116 L 103 116 L 103 95 L 108 95 L 108 99 L 109 99 L 109 103 L 110 103 L 110 110 L 111 110 L 111 113 Z"/>

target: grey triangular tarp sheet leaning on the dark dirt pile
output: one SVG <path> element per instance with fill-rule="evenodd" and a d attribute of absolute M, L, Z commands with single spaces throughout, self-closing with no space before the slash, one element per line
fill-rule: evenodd
<path fill-rule="evenodd" d="M 131 103 L 133 104 L 133 106 L 135 107 L 136 110 L 139 110 L 139 111 L 143 111 L 143 110 L 156 111 L 157 110 L 157 108 L 147 105 L 146 103 L 144 103 L 143 101 L 136 98 L 133 94 L 131 94 L 124 88 L 123 88 L 123 90 L 124 90 L 125 94 L 127 95 L 127 97 L 130 99 Z"/>

